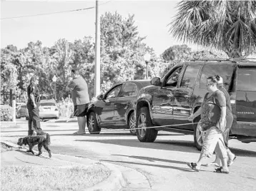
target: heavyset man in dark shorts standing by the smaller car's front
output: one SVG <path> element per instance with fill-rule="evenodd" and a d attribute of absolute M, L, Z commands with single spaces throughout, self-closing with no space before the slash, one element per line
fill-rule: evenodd
<path fill-rule="evenodd" d="M 86 115 L 89 105 L 89 94 L 87 82 L 80 76 L 77 68 L 72 69 L 73 80 L 69 83 L 66 90 L 72 91 L 72 101 L 74 103 L 74 116 L 77 116 L 79 130 L 75 135 L 85 134 Z"/>

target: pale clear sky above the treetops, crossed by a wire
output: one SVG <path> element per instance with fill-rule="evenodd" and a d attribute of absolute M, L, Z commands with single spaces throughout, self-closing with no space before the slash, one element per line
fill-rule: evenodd
<path fill-rule="evenodd" d="M 95 9 L 44 16 L 15 16 L 47 14 L 95 6 L 96 1 L 3 1 L 1 0 L 1 48 L 9 44 L 26 47 L 30 41 L 53 46 L 59 38 L 74 42 L 84 36 L 95 37 Z M 178 1 L 99 1 L 99 15 L 117 11 L 123 18 L 134 14 L 139 36 L 157 55 L 175 44 L 182 44 L 168 32 L 167 26 L 177 12 Z M 190 46 L 195 49 L 195 46 Z"/>

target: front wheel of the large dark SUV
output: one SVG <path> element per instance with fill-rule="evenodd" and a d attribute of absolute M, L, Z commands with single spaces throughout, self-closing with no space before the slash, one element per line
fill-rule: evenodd
<path fill-rule="evenodd" d="M 149 109 L 147 107 L 140 108 L 136 120 L 136 128 L 141 128 L 136 130 L 140 142 L 152 143 L 156 140 L 158 131 L 154 128 L 147 128 L 152 126 Z"/>

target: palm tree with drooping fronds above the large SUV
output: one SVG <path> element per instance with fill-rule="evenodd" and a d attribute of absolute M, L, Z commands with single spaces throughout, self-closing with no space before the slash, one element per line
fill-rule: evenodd
<path fill-rule="evenodd" d="M 230 58 L 256 47 L 256 1 L 180 1 L 169 24 L 175 38 L 225 51 Z"/>

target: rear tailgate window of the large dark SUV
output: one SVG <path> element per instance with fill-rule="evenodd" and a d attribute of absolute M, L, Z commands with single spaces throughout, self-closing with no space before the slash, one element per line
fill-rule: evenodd
<path fill-rule="evenodd" d="M 239 68 L 237 91 L 256 91 L 256 68 Z"/>

